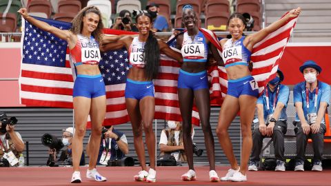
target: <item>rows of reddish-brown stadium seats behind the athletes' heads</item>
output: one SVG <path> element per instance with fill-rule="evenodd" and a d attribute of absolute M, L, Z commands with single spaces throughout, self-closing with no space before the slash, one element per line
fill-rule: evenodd
<path fill-rule="evenodd" d="M 21 17 L 17 10 L 26 7 L 32 16 L 70 22 L 85 6 L 97 6 L 102 12 L 106 28 L 112 25 L 121 10 L 143 10 L 150 2 L 158 3 L 160 12 L 171 28 L 181 28 L 182 8 L 190 3 L 200 18 L 199 26 L 211 30 L 225 30 L 231 12 L 248 12 L 255 19 L 255 31 L 261 29 L 261 0 L 0 0 L 0 32 L 20 32 Z M 14 26 L 17 25 L 17 26 Z M 223 26 L 222 26 L 223 25 Z"/>

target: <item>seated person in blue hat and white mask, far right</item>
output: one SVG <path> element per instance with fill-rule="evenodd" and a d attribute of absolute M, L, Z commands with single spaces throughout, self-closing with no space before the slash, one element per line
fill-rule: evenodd
<path fill-rule="evenodd" d="M 318 80 L 321 67 L 314 61 L 305 61 L 299 68 L 305 81 L 294 86 L 294 105 L 297 110 L 294 132 L 297 135 L 297 156 L 294 171 L 304 171 L 305 147 L 312 138 L 314 158 L 312 171 L 322 171 L 324 134 L 326 131 L 324 115 L 330 105 L 330 85 Z"/>

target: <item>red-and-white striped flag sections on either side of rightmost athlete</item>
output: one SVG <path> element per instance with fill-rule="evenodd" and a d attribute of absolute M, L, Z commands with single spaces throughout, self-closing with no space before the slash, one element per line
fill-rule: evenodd
<path fill-rule="evenodd" d="M 284 15 L 285 16 L 285 15 Z M 265 39 L 255 44 L 252 50 L 251 61 L 253 63 L 252 76 L 259 85 L 259 93 L 261 94 L 265 85 L 276 76 L 279 61 L 285 50 L 290 36 L 298 17 L 290 19 L 281 28 L 268 34 Z M 211 103 L 221 105 L 223 98 L 228 91 L 228 78 L 224 67 L 212 66 L 208 70 L 212 81 L 211 90 L 214 94 L 219 94 L 217 90 L 221 90 L 221 96 L 211 96 Z M 219 84 L 217 83 L 219 82 Z"/>

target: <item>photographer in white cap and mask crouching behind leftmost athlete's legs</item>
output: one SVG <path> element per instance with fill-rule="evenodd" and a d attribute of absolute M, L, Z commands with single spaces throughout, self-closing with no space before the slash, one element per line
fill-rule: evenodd
<path fill-rule="evenodd" d="M 63 130 L 62 134 L 62 143 L 65 146 L 65 149 L 61 150 L 61 154 L 59 158 L 58 152 L 56 149 L 48 149 L 48 154 L 50 154 L 50 157 L 48 158 L 48 161 L 46 165 L 50 167 L 58 166 L 58 165 L 72 165 L 72 149 L 71 149 L 71 143 L 72 143 L 72 137 L 74 136 L 74 128 L 68 127 L 66 130 Z M 81 154 L 81 162 L 79 165 L 85 165 L 85 154 L 82 152 Z"/>

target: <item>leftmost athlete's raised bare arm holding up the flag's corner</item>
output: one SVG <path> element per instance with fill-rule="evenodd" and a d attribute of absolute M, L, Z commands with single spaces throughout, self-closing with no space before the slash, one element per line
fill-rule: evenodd
<path fill-rule="evenodd" d="M 56 37 L 66 40 L 68 43 L 70 43 L 70 40 L 72 41 L 74 38 L 74 37 L 72 37 L 73 36 L 72 32 L 70 32 L 69 30 L 61 30 L 52 25 L 49 25 L 46 22 L 39 21 L 37 19 L 34 19 L 33 17 L 30 17 L 28 15 L 28 11 L 26 10 L 26 8 L 21 8 L 17 12 L 19 12 L 22 15 L 22 17 L 24 19 L 26 19 L 26 21 L 29 21 L 30 23 L 32 23 L 32 25 L 35 25 L 35 26 L 37 26 L 37 28 L 40 28 L 41 30 L 44 30 L 46 32 L 50 32 L 50 33 L 54 34 Z"/>

